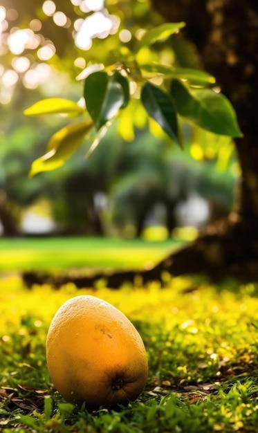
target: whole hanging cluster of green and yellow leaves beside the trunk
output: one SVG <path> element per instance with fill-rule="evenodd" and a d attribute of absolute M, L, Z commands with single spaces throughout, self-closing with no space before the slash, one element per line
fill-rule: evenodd
<path fill-rule="evenodd" d="M 162 43 L 184 25 L 161 24 L 146 30 L 133 50 L 120 47 L 113 53 L 115 63 L 89 65 L 79 77 L 84 81 L 83 98 L 79 102 L 47 98 L 26 109 L 27 116 L 58 113 L 70 118 L 83 117 L 53 135 L 46 154 L 33 162 L 30 175 L 62 166 L 85 141 L 89 156 L 113 120 L 122 118 L 123 125 L 127 119 L 130 122 L 130 116 L 137 116 L 135 107 L 139 104 L 145 117 L 154 120 L 180 146 L 183 146 L 180 118 L 212 133 L 241 136 L 230 102 L 213 88 L 214 77 L 197 69 L 165 64 L 161 55 L 161 59 L 154 56 L 158 62 L 152 58 L 145 62 L 145 51 L 151 52 L 149 46 Z M 135 119 L 132 125 L 134 122 Z"/>

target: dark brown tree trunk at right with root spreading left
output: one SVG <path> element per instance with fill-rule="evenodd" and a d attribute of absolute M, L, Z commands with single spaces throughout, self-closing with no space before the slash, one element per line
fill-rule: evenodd
<path fill-rule="evenodd" d="M 165 21 L 185 21 L 184 36 L 196 46 L 201 65 L 216 77 L 232 102 L 244 134 L 235 140 L 241 182 L 228 219 L 208 226 L 194 243 L 151 270 L 108 275 L 107 285 L 120 286 L 125 280 L 133 281 L 136 274 L 142 282 L 162 281 L 164 271 L 258 280 L 258 1 L 150 1 Z M 75 283 L 91 286 L 101 277 Z"/>

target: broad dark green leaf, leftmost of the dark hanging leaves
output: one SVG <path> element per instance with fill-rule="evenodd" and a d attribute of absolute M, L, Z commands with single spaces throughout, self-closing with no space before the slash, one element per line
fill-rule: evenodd
<path fill-rule="evenodd" d="M 106 72 L 95 72 L 86 77 L 84 98 L 97 131 L 125 104 L 122 85 Z"/>

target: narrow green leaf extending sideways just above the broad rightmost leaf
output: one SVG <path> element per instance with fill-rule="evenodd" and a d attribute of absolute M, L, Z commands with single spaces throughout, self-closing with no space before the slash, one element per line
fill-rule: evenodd
<path fill-rule="evenodd" d="M 212 75 L 191 68 L 173 68 L 162 64 L 145 64 L 141 65 L 142 71 L 153 73 L 154 75 L 165 75 L 166 78 L 176 78 L 178 80 L 188 81 L 196 86 L 207 86 L 214 84 L 215 78 Z"/>

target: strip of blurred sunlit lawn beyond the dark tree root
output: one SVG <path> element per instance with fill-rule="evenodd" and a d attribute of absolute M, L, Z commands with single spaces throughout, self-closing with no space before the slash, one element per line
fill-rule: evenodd
<path fill-rule="evenodd" d="M 142 268 L 156 263 L 182 241 L 102 238 L 1 239 L 0 272 L 66 268 Z M 136 253 L 137 251 L 137 253 Z"/>

